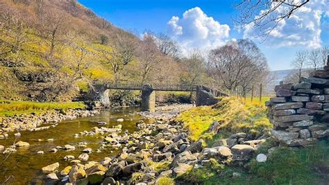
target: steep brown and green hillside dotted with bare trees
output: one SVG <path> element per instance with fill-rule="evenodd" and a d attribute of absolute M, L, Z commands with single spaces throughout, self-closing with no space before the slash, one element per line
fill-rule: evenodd
<path fill-rule="evenodd" d="M 74 0 L 4 0 L 0 12 L 0 99 L 72 100 L 94 80 L 169 82 L 179 69 Z"/>

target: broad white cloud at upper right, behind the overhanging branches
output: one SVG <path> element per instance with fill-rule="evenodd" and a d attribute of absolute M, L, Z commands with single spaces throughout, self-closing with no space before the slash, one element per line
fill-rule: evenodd
<path fill-rule="evenodd" d="M 289 19 L 280 21 L 278 26 L 268 35 L 264 44 L 271 47 L 306 46 L 311 49 L 321 47 L 321 17 L 329 13 L 326 1 L 310 1 L 294 12 L 294 15 Z M 284 10 L 285 7 L 282 6 L 273 13 L 280 13 Z M 269 30 L 269 26 L 264 30 Z M 253 28 L 253 24 L 244 28 L 244 38 L 260 41 L 264 39 L 258 37 L 259 35 L 260 30 Z"/>

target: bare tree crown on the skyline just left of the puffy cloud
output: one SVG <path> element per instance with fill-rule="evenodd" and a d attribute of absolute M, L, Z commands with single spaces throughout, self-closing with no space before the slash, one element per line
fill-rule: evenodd
<path fill-rule="evenodd" d="M 179 45 L 168 35 L 164 33 L 158 34 L 155 39 L 155 44 L 163 54 L 170 55 L 174 59 L 180 58 Z"/>

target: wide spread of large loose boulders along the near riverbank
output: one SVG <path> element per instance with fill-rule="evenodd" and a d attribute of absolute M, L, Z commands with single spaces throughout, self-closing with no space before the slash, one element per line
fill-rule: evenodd
<path fill-rule="evenodd" d="M 217 132 L 218 124 L 214 122 L 209 132 Z M 71 161 L 70 166 L 54 163 L 44 166 L 42 171 L 48 179 L 63 184 L 159 184 L 161 179 L 178 177 L 192 168 L 212 165 L 214 160 L 221 164 L 241 164 L 253 157 L 266 137 L 248 141 L 250 137 L 241 132 L 222 139 L 212 148 L 204 148 L 202 139 L 191 141 L 183 123 L 174 119 L 149 124 L 139 121 L 136 127 L 137 131 L 133 133 L 121 133 L 118 125 L 112 129 L 95 127 L 88 133 L 76 134 L 74 136 L 101 134 L 103 142 L 99 150 L 120 148 L 121 152 L 101 161 L 88 161 L 90 153 L 97 151 L 85 148 L 81 155 L 63 156 Z M 66 148 L 60 147 L 62 150 Z M 257 159 L 264 162 L 267 156 L 258 155 Z"/>

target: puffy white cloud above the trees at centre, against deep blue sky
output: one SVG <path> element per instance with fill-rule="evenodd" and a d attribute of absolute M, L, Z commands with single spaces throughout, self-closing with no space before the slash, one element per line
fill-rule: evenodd
<path fill-rule="evenodd" d="M 221 46 L 229 37 L 230 26 L 219 21 L 196 7 L 183 13 L 183 17 L 171 17 L 167 22 L 167 34 L 181 44 L 183 54 L 199 49 L 206 51 Z"/>

